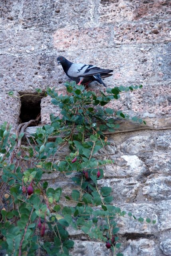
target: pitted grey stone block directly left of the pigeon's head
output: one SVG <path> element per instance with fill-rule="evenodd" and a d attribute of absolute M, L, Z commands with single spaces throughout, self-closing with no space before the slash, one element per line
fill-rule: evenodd
<path fill-rule="evenodd" d="M 1 90 L 33 92 L 36 88 L 56 87 L 64 75 L 56 67 L 56 57 L 53 53 L 0 55 Z"/>

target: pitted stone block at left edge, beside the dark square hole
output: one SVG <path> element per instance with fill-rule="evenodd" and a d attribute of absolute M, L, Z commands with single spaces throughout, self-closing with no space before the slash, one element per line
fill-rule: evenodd
<path fill-rule="evenodd" d="M 21 102 L 18 93 L 14 93 L 14 97 L 8 96 L 6 92 L 0 92 L 0 124 L 5 121 L 12 124 L 12 131 L 16 129 L 20 122 Z"/>

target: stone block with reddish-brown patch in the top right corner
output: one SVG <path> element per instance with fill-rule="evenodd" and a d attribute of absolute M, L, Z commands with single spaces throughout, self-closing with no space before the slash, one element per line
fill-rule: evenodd
<path fill-rule="evenodd" d="M 99 22 L 116 23 L 132 20 L 157 20 L 170 18 L 169 0 L 101 0 L 98 8 Z"/>

